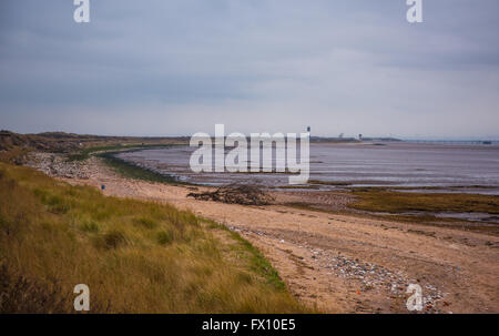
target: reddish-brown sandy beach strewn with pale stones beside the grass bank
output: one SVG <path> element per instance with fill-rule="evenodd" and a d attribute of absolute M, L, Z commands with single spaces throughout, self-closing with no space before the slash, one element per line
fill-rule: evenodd
<path fill-rule="evenodd" d="M 426 312 L 499 313 L 499 238 L 457 230 L 285 206 L 187 198 L 189 187 L 116 176 L 96 159 L 90 179 L 106 195 L 167 202 L 226 224 L 256 245 L 302 301 L 330 313 L 407 313 L 409 284 Z"/>

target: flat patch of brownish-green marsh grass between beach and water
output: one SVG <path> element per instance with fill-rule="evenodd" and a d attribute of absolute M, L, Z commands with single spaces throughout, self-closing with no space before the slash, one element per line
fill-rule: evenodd
<path fill-rule="evenodd" d="M 480 212 L 499 214 L 499 196 L 468 193 L 407 193 L 378 187 L 356 189 L 350 207 L 370 212 Z"/>

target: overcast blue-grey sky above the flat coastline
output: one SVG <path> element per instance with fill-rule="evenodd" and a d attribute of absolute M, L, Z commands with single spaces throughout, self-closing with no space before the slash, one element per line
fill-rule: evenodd
<path fill-rule="evenodd" d="M 499 1 L 0 1 L 0 129 L 499 139 Z"/>

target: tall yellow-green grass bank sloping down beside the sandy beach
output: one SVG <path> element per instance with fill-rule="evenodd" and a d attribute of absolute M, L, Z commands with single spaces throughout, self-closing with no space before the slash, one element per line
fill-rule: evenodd
<path fill-rule="evenodd" d="M 268 262 L 216 223 L 0 163 L 0 313 L 301 313 Z"/>

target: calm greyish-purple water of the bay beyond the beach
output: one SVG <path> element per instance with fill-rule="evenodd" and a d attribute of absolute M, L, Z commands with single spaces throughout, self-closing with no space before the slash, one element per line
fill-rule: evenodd
<path fill-rule="evenodd" d="M 177 146 L 121 153 L 119 156 L 193 183 L 220 185 L 251 180 L 272 186 L 287 185 L 286 174 L 195 174 L 189 169 L 193 151 L 189 146 Z M 353 186 L 485 186 L 459 189 L 459 192 L 499 194 L 499 145 L 310 144 L 309 180 L 348 182 Z"/>

